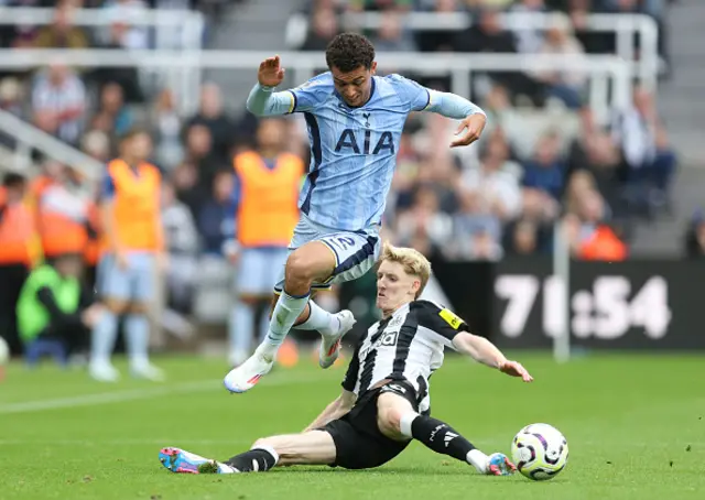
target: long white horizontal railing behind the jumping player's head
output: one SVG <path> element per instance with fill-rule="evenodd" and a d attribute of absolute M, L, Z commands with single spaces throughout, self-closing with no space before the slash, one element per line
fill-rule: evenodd
<path fill-rule="evenodd" d="M 284 67 L 300 85 L 325 67 L 322 52 L 281 52 Z M 260 63 L 270 57 L 260 51 L 122 51 L 122 50 L 0 50 L 0 68 L 30 69 L 61 59 L 76 67 L 147 67 L 176 72 L 183 78 L 169 80 L 180 101 L 197 102 L 198 84 L 204 69 L 252 70 L 252 81 Z M 451 76 L 451 90 L 460 96 L 471 95 L 471 77 L 476 72 L 579 70 L 588 75 L 588 102 L 600 120 L 611 109 L 625 109 L 631 102 L 629 64 L 614 55 L 586 55 L 576 58 L 522 54 L 459 54 L 434 53 L 430 57 L 419 52 L 387 52 L 377 55 L 382 72 L 410 72 L 424 76 Z M 167 85 L 169 85 L 167 83 Z M 612 85 L 610 91 L 610 84 Z M 181 111 L 187 113 L 189 106 Z"/>

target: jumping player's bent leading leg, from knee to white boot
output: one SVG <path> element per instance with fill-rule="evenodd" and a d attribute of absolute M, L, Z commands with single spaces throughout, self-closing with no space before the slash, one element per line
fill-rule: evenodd
<path fill-rule="evenodd" d="M 262 376 L 269 373 L 274 365 L 279 346 L 282 345 L 291 328 L 296 323 L 310 319 L 307 309 L 310 312 L 311 307 L 307 305 L 311 285 L 315 281 L 327 280 L 335 267 L 335 254 L 321 241 L 308 242 L 289 256 L 284 272 L 284 290 L 274 306 L 267 337 L 245 363 L 226 376 L 224 383 L 229 391 L 246 392 L 254 387 Z M 329 313 L 323 309 L 319 309 L 319 313 L 314 316 L 314 322 L 329 325 L 330 322 L 327 319 Z M 323 316 L 326 316 L 325 322 L 322 319 Z M 347 323 L 349 322 L 346 320 L 346 325 Z M 338 340 L 345 331 L 347 330 L 344 330 L 341 325 L 335 335 L 324 335 L 328 351 L 334 347 L 336 350 L 339 349 Z"/>

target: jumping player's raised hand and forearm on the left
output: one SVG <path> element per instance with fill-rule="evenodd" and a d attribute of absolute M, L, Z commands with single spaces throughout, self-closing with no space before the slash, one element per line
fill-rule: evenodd
<path fill-rule="evenodd" d="M 284 68 L 281 67 L 278 55 L 262 61 L 257 79 L 258 83 L 247 98 L 248 111 L 258 117 L 286 115 L 293 111 L 294 95 L 290 90 L 273 91 L 284 79 Z"/>

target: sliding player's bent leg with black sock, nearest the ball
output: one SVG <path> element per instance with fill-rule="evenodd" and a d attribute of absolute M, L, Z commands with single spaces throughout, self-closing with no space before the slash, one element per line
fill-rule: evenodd
<path fill-rule="evenodd" d="M 392 439 L 416 439 L 436 453 L 470 464 L 480 474 L 506 476 L 516 470 L 503 454 L 485 455 L 445 422 L 416 413 L 401 395 L 384 392 L 377 404 L 379 428 Z"/>

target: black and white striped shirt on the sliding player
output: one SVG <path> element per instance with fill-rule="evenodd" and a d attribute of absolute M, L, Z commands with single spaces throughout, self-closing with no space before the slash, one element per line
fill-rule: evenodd
<path fill-rule="evenodd" d="M 431 301 L 414 301 L 372 325 L 355 349 L 343 388 L 361 396 L 380 380 L 405 380 L 416 390 L 419 411 L 431 406 L 429 378 L 443 365 L 444 347 L 467 324 Z"/>

